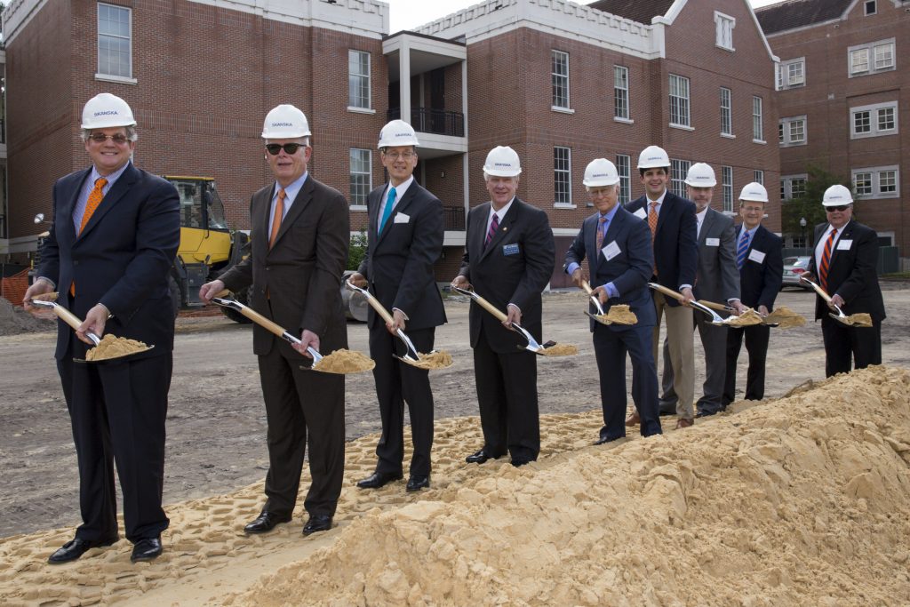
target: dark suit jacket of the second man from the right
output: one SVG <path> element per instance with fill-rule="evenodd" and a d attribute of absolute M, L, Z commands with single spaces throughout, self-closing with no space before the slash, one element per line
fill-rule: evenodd
<path fill-rule="evenodd" d="M 736 242 L 743 233 L 743 225 L 736 229 Z M 784 283 L 784 256 L 781 237 L 768 231 L 764 226 L 755 230 L 745 262 L 740 270 L 740 300 L 743 305 L 753 309 L 764 306 L 768 311 L 774 309 L 774 299 Z M 754 253 L 753 253 L 754 251 Z M 754 258 L 764 257 L 761 261 Z M 754 258 L 753 258 L 754 257 Z"/>

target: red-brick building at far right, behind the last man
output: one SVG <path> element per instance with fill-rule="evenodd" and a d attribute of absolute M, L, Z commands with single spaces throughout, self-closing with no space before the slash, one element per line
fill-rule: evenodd
<path fill-rule="evenodd" d="M 910 264 L 910 50 L 906 0 L 799 0 L 756 11 L 780 57 L 781 196 L 814 165 L 852 179 L 857 217 Z M 902 177 L 904 177 L 902 179 Z"/>

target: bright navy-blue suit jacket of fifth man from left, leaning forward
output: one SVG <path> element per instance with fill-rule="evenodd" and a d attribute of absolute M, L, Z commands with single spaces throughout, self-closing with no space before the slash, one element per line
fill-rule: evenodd
<path fill-rule="evenodd" d="M 571 263 L 581 265 L 581 261 L 588 257 L 591 287 L 596 288 L 612 282 L 620 292 L 620 297 L 610 298 L 603 304 L 603 310 L 609 311 L 614 304 L 626 304 L 638 317 L 636 326 L 653 327 L 656 315 L 651 293 L 646 286 L 654 265 L 651 229 L 648 228 L 647 222 L 618 207 L 603 236 L 603 247 L 615 243 L 619 253 L 607 259 L 602 250 L 597 248 L 599 216 L 600 214 L 594 213 L 581 224 L 578 236 L 566 251 L 565 265 L 562 268 L 568 270 Z M 595 310 L 591 302 L 591 313 L 596 313 Z M 614 331 L 622 331 L 632 326 L 612 324 L 608 327 Z M 594 320 L 591 320 L 591 330 L 594 330 Z"/>

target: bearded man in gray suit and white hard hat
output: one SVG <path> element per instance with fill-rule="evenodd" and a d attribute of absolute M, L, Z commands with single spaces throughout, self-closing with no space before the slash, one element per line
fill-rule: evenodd
<path fill-rule="evenodd" d="M 711 207 L 714 186 L 717 185 L 713 168 L 703 162 L 694 164 L 689 168 L 685 184 L 686 195 L 695 203 L 695 218 L 698 219 L 698 269 L 693 288 L 695 298 L 725 301 L 740 314 L 744 308 L 739 299 L 733 218 L 718 213 Z M 721 410 L 727 329 L 712 325 L 701 312 L 694 314 L 693 318 L 704 349 L 704 393 L 696 403 L 697 417 L 704 417 Z M 676 412 L 677 397 L 673 390 L 673 369 L 666 339 L 663 340 L 663 360 L 661 412 L 672 415 Z"/>

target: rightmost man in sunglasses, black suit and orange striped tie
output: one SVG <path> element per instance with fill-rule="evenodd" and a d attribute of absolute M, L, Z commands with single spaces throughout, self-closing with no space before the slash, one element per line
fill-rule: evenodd
<path fill-rule="evenodd" d="M 882 364 L 882 320 L 885 300 L 878 286 L 878 234 L 853 219 L 853 196 L 835 185 L 822 199 L 828 223 L 815 226 L 814 255 L 806 278 L 818 277 L 831 303 L 844 314 L 865 312 L 872 327 L 848 327 L 828 314 L 821 297 L 815 298 L 815 319 L 822 319 L 824 377 Z"/>

